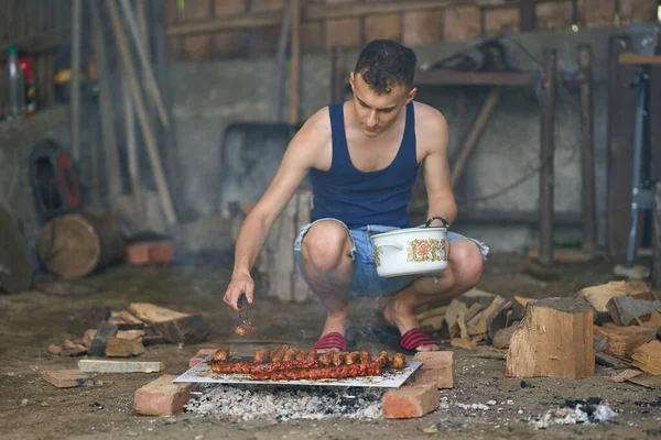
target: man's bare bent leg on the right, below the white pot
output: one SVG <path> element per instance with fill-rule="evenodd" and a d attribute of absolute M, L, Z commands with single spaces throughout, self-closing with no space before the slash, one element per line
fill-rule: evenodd
<path fill-rule="evenodd" d="M 400 334 L 420 328 L 415 310 L 427 302 L 451 299 L 473 288 L 481 277 L 484 256 L 472 240 L 457 240 L 449 245 L 447 267 L 433 277 L 422 277 L 400 290 L 383 310 L 383 317 Z M 422 344 L 418 351 L 438 350 L 436 344 Z"/>

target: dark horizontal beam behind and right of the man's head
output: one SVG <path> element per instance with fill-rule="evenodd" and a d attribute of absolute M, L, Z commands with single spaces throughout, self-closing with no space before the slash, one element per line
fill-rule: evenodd
<path fill-rule="evenodd" d="M 458 72 L 448 69 L 418 70 L 416 85 L 530 86 L 533 72 Z"/>

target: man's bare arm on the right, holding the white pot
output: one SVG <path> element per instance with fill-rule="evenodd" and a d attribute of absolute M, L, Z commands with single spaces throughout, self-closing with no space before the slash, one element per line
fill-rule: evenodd
<path fill-rule="evenodd" d="M 424 147 L 424 182 L 427 193 L 427 219 L 442 217 L 453 223 L 457 217 L 457 206 L 452 188 L 448 148 L 449 132 L 445 118 L 436 110 L 425 114 Z"/>

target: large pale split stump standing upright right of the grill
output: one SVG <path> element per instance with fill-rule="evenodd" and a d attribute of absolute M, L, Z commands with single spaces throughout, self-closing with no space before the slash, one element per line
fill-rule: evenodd
<path fill-rule="evenodd" d="M 592 306 L 583 298 L 546 298 L 529 302 L 510 340 L 506 376 L 593 376 L 593 330 Z"/>

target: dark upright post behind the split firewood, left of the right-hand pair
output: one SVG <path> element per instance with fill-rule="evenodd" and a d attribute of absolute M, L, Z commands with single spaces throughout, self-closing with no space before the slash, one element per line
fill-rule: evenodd
<path fill-rule="evenodd" d="M 542 74 L 542 116 L 540 148 L 540 263 L 550 266 L 553 263 L 553 161 L 555 156 L 555 85 L 556 52 L 544 50 L 544 72 Z"/>

